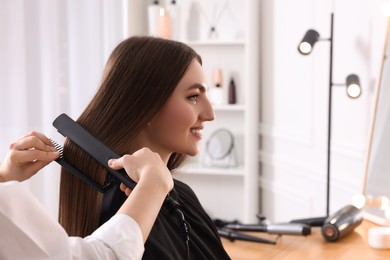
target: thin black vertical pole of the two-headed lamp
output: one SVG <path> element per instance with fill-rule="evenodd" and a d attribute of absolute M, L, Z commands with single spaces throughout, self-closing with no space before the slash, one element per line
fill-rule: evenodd
<path fill-rule="evenodd" d="M 330 57 L 329 57 L 329 97 L 328 97 L 328 151 L 326 166 L 326 216 L 329 216 L 330 200 L 330 138 L 332 132 L 332 87 L 333 87 L 333 13 L 330 16 Z"/>

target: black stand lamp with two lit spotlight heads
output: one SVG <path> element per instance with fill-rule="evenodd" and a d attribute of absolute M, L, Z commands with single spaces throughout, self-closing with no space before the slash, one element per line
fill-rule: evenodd
<path fill-rule="evenodd" d="M 308 30 L 298 46 L 298 51 L 303 55 L 311 53 L 314 44 L 317 41 L 326 40 L 330 41 L 330 54 L 329 54 L 329 96 L 328 96 L 328 142 L 327 142 L 327 180 L 326 180 L 326 215 L 329 216 L 329 198 L 330 198 L 330 138 L 331 138 L 331 123 L 332 123 L 332 87 L 333 86 L 346 86 L 347 94 L 351 98 L 357 98 L 361 94 L 361 87 L 359 77 L 355 74 L 351 74 L 346 79 L 346 84 L 334 84 L 332 79 L 333 73 L 333 19 L 334 15 L 331 14 L 330 22 L 330 38 L 320 39 L 320 34 L 315 30 Z"/>

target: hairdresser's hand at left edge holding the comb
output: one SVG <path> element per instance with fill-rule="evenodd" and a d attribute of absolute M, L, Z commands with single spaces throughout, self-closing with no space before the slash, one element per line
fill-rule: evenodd
<path fill-rule="evenodd" d="M 27 180 L 59 156 L 44 134 L 29 132 L 9 145 L 0 164 L 0 182 Z"/>

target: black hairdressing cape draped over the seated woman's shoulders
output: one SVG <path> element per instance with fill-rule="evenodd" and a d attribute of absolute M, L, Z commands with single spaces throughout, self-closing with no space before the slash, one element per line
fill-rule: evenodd
<path fill-rule="evenodd" d="M 175 188 L 171 196 L 180 204 L 179 208 L 190 225 L 189 259 L 230 259 L 213 221 L 195 193 L 181 181 L 174 180 L 174 183 Z M 103 198 L 101 224 L 113 216 L 126 200 L 119 188 L 110 193 L 106 193 Z M 143 259 L 187 259 L 183 233 L 181 219 L 164 204 L 145 243 Z"/>

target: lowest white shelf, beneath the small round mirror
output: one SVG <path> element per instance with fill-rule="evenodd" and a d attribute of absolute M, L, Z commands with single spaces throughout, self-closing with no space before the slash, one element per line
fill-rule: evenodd
<path fill-rule="evenodd" d="M 205 167 L 190 163 L 180 168 L 180 173 L 185 175 L 221 175 L 221 176 L 244 176 L 243 166 L 238 167 Z"/>

